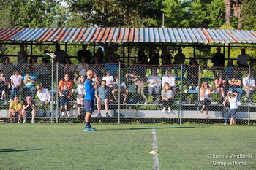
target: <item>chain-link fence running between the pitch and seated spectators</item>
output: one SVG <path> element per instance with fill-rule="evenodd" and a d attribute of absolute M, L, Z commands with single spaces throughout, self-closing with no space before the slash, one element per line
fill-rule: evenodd
<path fill-rule="evenodd" d="M 255 123 L 255 69 L 209 68 L 196 61 L 170 66 L 2 66 L 0 119 L 83 123 L 88 69 L 100 85 L 94 98 L 95 123 Z M 15 96 L 23 109 L 10 112 L 18 104 Z"/>

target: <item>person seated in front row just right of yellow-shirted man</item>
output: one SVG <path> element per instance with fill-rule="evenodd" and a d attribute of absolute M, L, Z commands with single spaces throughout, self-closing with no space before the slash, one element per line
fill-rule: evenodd
<path fill-rule="evenodd" d="M 36 105 L 34 101 L 31 100 L 31 96 L 26 96 L 26 100 L 23 101 L 23 109 L 21 111 L 23 116 L 23 123 L 26 123 L 26 114 L 29 114 L 31 117 L 31 123 L 34 123 L 34 118 L 36 117 Z"/>

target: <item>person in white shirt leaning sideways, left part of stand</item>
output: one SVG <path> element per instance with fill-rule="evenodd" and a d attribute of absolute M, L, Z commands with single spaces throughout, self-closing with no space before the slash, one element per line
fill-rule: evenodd
<path fill-rule="evenodd" d="M 40 100 L 40 106 L 43 111 L 42 116 L 46 116 L 45 107 L 50 105 L 50 92 L 47 88 L 42 88 L 41 85 L 37 85 L 37 97 Z"/>

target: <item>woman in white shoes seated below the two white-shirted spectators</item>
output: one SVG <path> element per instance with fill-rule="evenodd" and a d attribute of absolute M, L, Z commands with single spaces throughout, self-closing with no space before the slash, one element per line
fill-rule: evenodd
<path fill-rule="evenodd" d="M 168 108 L 168 112 L 170 113 L 170 107 L 173 105 L 173 95 L 172 90 L 170 90 L 170 85 L 168 82 L 165 82 L 164 87 L 162 88 L 162 105 L 164 108 L 162 109 L 162 112 L 165 112 L 165 109 Z"/>

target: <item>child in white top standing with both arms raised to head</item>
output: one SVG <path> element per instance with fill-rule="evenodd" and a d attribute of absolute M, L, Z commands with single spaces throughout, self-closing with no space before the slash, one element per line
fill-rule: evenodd
<path fill-rule="evenodd" d="M 230 118 L 230 125 L 235 125 L 235 118 L 236 118 L 236 109 L 238 109 L 238 104 L 237 104 L 237 93 L 233 93 L 231 91 L 229 91 L 227 93 L 227 97 L 225 98 L 225 101 L 223 101 L 223 104 L 225 105 L 225 103 L 227 102 L 227 100 L 230 102 L 230 114 L 231 114 L 231 118 Z M 226 121 L 225 121 L 226 124 Z"/>

